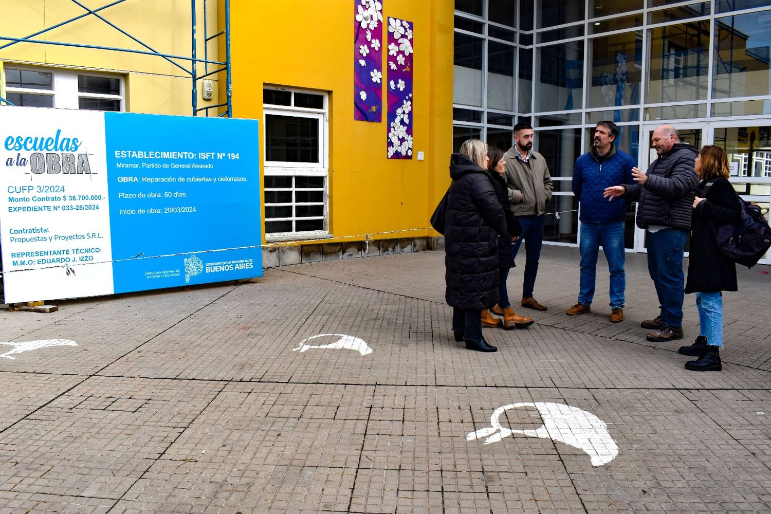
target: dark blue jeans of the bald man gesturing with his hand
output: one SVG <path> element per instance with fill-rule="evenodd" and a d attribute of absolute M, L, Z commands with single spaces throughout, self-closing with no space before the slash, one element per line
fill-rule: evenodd
<path fill-rule="evenodd" d="M 682 327 L 682 250 L 687 237 L 688 232 L 678 228 L 648 232 L 648 274 L 656 287 L 664 324 L 672 328 Z"/>

